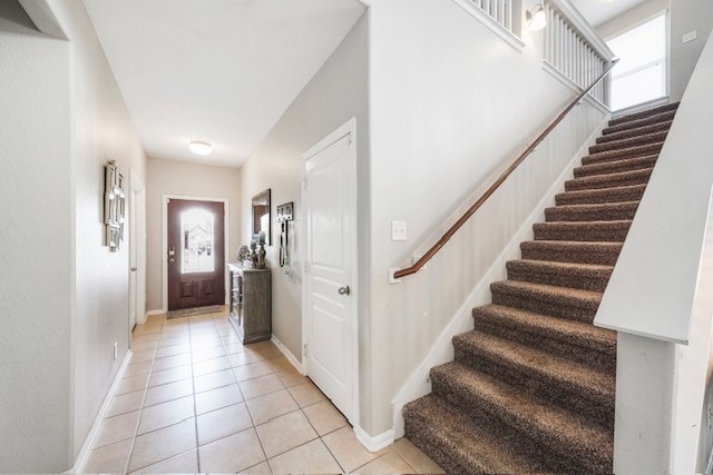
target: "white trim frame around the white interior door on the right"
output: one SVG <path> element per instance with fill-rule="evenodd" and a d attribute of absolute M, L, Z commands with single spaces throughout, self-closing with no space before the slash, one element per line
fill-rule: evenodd
<path fill-rule="evenodd" d="M 351 259 L 351 283 L 350 287 L 352 290 L 353 298 L 351 299 L 351 311 L 352 311 L 352 354 L 346 355 L 345 360 L 351 363 L 352 365 L 352 414 L 344 414 L 352 425 L 352 427 L 360 427 L 359 416 L 360 416 L 360 407 L 359 407 L 359 249 L 358 249 L 358 236 L 359 236 L 359 221 L 356 214 L 356 118 L 352 117 L 346 123 L 339 127 L 336 130 L 331 132 L 329 136 L 320 140 L 316 145 L 307 149 L 302 154 L 302 184 L 301 187 L 301 199 L 302 206 L 304 210 L 304 219 L 302 220 L 302 236 L 304 239 L 300 239 L 300 254 L 304 256 L 304 266 L 302 266 L 302 373 L 309 374 L 309 359 L 305 356 L 306 348 L 309 345 L 309 328 L 310 328 L 310 310 L 309 310 L 309 298 L 310 298 L 310 281 L 306 276 L 307 267 L 310 263 L 307 261 L 307 201 L 306 201 L 306 161 L 318 155 L 319 152 L 326 149 L 329 146 L 338 142 L 346 136 L 352 137 L 353 147 L 351 148 L 351 152 L 346 157 L 349 160 L 348 170 L 351 176 L 351 202 L 350 206 L 353 210 L 354 217 L 354 226 L 352 232 L 349 236 L 349 246 L 352 250 L 352 259 Z"/>

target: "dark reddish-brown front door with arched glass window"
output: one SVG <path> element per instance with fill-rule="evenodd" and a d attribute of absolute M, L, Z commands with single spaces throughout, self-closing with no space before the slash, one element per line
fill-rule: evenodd
<path fill-rule="evenodd" d="M 168 309 L 225 304 L 222 202 L 168 200 Z"/>

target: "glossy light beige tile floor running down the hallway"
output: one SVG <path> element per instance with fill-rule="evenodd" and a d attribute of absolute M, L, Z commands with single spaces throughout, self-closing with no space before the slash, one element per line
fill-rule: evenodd
<path fill-rule="evenodd" d="M 402 438 L 372 454 L 270 342 L 243 346 L 226 310 L 149 317 L 87 473 L 442 473 Z"/>

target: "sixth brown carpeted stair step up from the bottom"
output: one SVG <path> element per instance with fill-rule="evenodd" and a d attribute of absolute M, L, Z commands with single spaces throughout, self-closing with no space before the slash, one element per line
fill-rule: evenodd
<path fill-rule="evenodd" d="M 614 266 L 518 259 L 506 264 L 508 279 L 604 291 Z"/>

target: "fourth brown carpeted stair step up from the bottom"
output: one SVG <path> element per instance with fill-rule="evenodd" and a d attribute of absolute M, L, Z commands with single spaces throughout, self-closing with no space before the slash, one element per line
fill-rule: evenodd
<path fill-rule="evenodd" d="M 497 335 L 504 338 L 512 339 L 519 334 L 529 334 L 557 339 L 612 357 L 616 356 L 616 331 L 606 328 L 496 304 L 473 308 L 472 316 L 477 330 L 482 331 L 484 323 L 492 324 L 509 334 L 507 337 Z M 519 339 L 516 342 L 526 345 Z"/>

